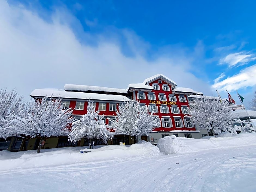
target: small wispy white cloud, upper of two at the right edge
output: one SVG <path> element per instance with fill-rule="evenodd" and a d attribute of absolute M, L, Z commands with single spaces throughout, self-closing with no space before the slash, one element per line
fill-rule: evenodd
<path fill-rule="evenodd" d="M 220 59 L 220 64 L 228 64 L 229 67 L 244 65 L 250 61 L 256 60 L 254 54 L 245 52 L 232 53 Z"/>

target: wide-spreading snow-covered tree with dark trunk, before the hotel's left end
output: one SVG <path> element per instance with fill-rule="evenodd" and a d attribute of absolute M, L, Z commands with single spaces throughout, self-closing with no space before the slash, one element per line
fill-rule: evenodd
<path fill-rule="evenodd" d="M 17 135 L 40 138 L 38 153 L 42 142 L 51 136 L 68 135 L 69 127 L 74 121 L 72 108 L 63 109 L 62 98 L 31 99 L 13 120 L 8 129 L 13 129 Z"/>

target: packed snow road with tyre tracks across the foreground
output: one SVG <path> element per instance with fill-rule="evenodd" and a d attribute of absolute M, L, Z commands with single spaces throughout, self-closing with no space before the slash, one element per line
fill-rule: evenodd
<path fill-rule="evenodd" d="M 0 169 L 0 191 L 252 192 L 255 147 Z"/>

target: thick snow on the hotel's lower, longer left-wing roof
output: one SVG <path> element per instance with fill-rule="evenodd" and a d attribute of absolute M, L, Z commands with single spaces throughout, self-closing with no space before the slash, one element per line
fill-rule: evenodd
<path fill-rule="evenodd" d="M 35 96 L 52 96 L 52 97 L 63 97 L 70 99 L 85 99 L 85 100 L 112 100 L 112 101 L 130 101 L 128 97 L 122 95 L 106 95 L 99 93 L 83 93 L 83 92 L 72 92 L 65 91 L 63 89 L 35 89 L 30 94 L 31 97 Z"/>

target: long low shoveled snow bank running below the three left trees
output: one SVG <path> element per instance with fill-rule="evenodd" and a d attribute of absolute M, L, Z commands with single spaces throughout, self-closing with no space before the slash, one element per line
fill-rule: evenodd
<path fill-rule="evenodd" d="M 98 147 L 98 146 L 95 146 Z M 89 147 L 88 147 L 89 148 Z M 130 145 L 106 145 L 96 149 L 86 149 L 92 152 L 80 153 L 84 147 L 44 149 L 40 153 L 36 150 L 9 152 L 0 151 L 0 166 L 2 170 L 15 169 L 20 166 L 41 167 L 59 164 L 113 160 L 126 157 L 152 157 L 160 154 L 159 149 L 150 142 L 139 142 Z"/>

